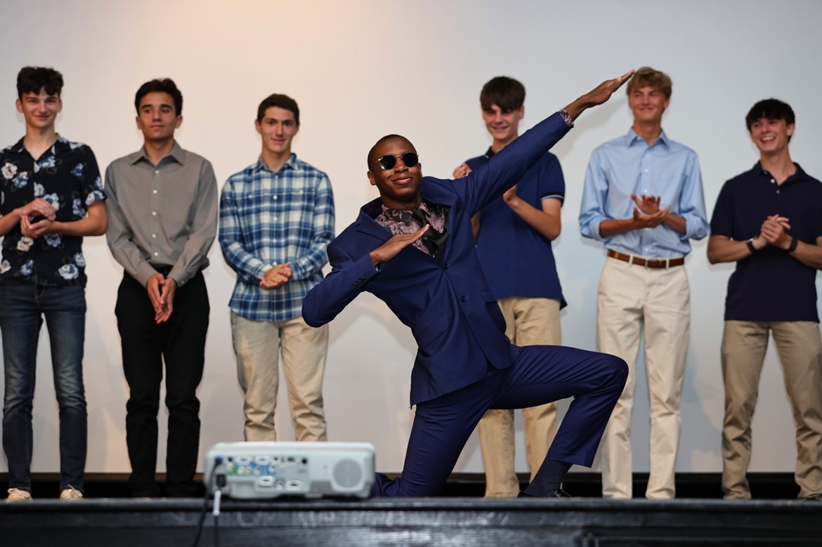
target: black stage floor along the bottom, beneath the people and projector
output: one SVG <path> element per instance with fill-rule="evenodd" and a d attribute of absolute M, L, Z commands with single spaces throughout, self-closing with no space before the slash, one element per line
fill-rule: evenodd
<path fill-rule="evenodd" d="M 697 488 L 700 477 L 704 486 Z M 788 477 L 751 476 L 755 495 L 791 490 Z M 209 503 L 198 545 L 822 545 L 822 503 L 724 501 L 716 481 L 709 491 L 717 494 L 703 498 L 617 501 L 483 499 L 482 480 L 473 479 L 455 476 L 444 495 L 427 499 L 224 499 L 216 523 Z M 677 476 L 678 494 L 686 483 L 703 491 L 709 479 L 718 475 Z M 36 486 L 46 482 L 35 483 L 33 502 L 0 503 L 0 545 L 194 545 L 201 499 L 101 499 L 91 493 L 102 492 L 105 481 L 92 477 L 87 499 L 66 503 L 53 492 L 37 496 Z M 109 482 L 109 490 L 123 488 Z M 565 485 L 580 494 L 594 483 L 598 475 L 584 473 L 568 476 Z"/>

